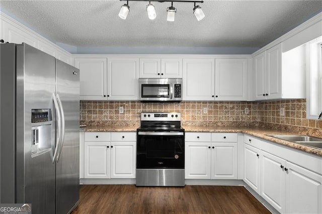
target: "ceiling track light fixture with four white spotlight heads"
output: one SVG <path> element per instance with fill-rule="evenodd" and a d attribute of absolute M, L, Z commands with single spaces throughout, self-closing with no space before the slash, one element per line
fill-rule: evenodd
<path fill-rule="evenodd" d="M 130 7 L 128 6 L 129 1 L 149 2 L 149 4 L 146 6 L 146 12 L 147 12 L 147 16 L 150 20 L 154 20 L 156 18 L 155 7 L 151 4 L 151 2 L 159 2 L 159 3 L 171 2 L 171 7 L 167 8 L 167 21 L 169 21 L 169 22 L 175 21 L 175 15 L 177 13 L 177 9 L 175 7 L 173 7 L 174 2 L 194 3 L 193 14 L 195 15 L 196 19 L 198 21 L 200 21 L 203 18 L 205 18 L 205 14 L 201 10 L 201 7 L 199 5 L 196 6 L 196 3 L 203 3 L 203 1 L 189 1 L 189 0 L 174 0 L 174 1 L 171 1 L 171 0 L 120 0 L 120 1 L 127 2 L 126 4 L 124 4 L 121 7 L 121 11 L 119 13 L 119 17 L 121 19 L 126 19 L 127 15 L 130 12 Z"/>

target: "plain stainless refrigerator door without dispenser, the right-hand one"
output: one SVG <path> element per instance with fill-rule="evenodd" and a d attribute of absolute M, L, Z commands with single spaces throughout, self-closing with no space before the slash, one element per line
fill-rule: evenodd
<path fill-rule="evenodd" d="M 56 94 L 65 119 L 56 162 L 56 213 L 67 213 L 79 199 L 79 70 L 57 59 Z"/>

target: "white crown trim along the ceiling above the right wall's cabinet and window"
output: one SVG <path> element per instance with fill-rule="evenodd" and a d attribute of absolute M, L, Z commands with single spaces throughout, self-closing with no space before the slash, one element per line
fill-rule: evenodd
<path fill-rule="evenodd" d="M 260 50 L 254 52 L 252 54 L 252 56 L 255 56 L 257 54 L 260 54 L 262 52 L 264 52 L 267 49 L 270 49 L 272 47 L 274 47 L 275 45 L 284 42 L 285 40 L 295 36 L 296 34 L 302 32 L 303 30 L 309 28 L 310 26 L 321 22 L 322 21 L 322 12 L 320 12 L 319 14 L 315 15 L 314 17 L 312 17 L 311 19 L 307 20 L 306 22 L 302 23 L 301 25 L 297 26 L 296 28 L 290 30 L 289 32 L 287 32 L 286 34 L 282 35 L 281 37 L 277 38 L 276 40 L 274 40 L 273 42 L 267 44 L 266 46 L 264 46 L 263 48 L 261 48 Z"/>

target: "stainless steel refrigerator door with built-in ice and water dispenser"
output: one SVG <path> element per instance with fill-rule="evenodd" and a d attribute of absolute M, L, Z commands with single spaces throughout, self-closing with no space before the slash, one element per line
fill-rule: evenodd
<path fill-rule="evenodd" d="M 32 203 L 33 213 L 55 213 L 55 58 L 22 44 L 17 45 L 16 64 L 16 202 Z M 51 119 L 32 122 L 33 112 L 41 109 Z M 44 139 L 36 150 L 33 135 Z"/>

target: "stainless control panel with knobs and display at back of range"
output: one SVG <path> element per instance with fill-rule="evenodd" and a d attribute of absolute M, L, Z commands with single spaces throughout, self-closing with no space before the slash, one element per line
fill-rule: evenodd
<path fill-rule="evenodd" d="M 141 121 L 181 121 L 181 113 L 142 112 Z"/>

